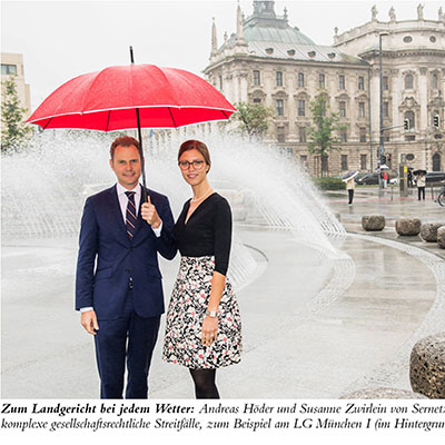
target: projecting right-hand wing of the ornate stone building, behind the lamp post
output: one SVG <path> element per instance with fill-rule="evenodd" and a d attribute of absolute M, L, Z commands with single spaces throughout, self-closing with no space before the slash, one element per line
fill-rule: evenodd
<path fill-rule="evenodd" d="M 406 159 L 416 168 L 445 170 L 443 10 L 438 10 L 437 20 L 426 20 L 419 4 L 415 20 L 397 21 L 390 8 L 388 21 L 379 21 L 373 8 L 369 22 L 334 37 L 334 48 L 369 63 L 374 151 L 380 128 L 379 39 L 384 151 L 393 165 Z"/>

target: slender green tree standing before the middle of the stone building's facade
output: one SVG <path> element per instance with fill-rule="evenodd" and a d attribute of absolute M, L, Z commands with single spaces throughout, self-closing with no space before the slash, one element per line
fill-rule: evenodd
<path fill-rule="evenodd" d="M 327 159 L 330 150 L 342 150 L 337 146 L 339 138 L 335 131 L 344 130 L 346 126 L 338 123 L 339 117 L 335 112 L 328 113 L 328 103 L 325 96 L 320 95 L 309 105 L 314 127 L 309 128 L 309 152 L 320 156 L 322 176 L 327 172 Z"/>

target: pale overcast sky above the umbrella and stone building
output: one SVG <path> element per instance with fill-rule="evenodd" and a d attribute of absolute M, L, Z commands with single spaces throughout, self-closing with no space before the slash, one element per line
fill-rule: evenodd
<path fill-rule="evenodd" d="M 289 23 L 316 43 L 332 44 L 334 28 L 344 32 L 370 20 L 377 4 L 382 21 L 394 6 L 397 20 L 415 19 L 417 1 L 276 1 Z M 437 20 L 444 1 L 428 1 L 425 19 Z M 253 1 L 240 1 L 250 16 Z M 210 53 L 211 18 L 218 44 L 236 31 L 235 0 L 205 1 L 1 1 L 1 51 L 23 55 L 24 76 L 34 109 L 67 80 L 112 65 L 175 67 L 201 75 Z"/>

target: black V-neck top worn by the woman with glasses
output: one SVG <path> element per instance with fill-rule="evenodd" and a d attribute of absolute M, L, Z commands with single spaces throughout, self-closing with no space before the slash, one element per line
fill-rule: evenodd
<path fill-rule="evenodd" d="M 206 198 L 187 224 L 190 199 L 184 205 L 174 228 L 174 237 L 182 256 L 215 256 L 215 270 L 226 275 L 231 246 L 231 211 L 226 198 L 217 192 Z"/>

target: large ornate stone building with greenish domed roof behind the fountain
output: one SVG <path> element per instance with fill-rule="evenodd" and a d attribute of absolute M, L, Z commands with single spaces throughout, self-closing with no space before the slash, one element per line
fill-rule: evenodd
<path fill-rule="evenodd" d="M 372 20 L 334 38 L 333 46 L 318 46 L 297 27 L 286 9 L 278 17 L 274 1 L 254 1 L 254 13 L 244 19 L 240 7 L 237 31 L 225 34 L 218 47 L 216 24 L 207 79 L 233 103 L 261 102 L 274 109 L 267 139 L 320 172 L 319 156 L 308 152 L 307 129 L 313 125 L 309 102 L 324 95 L 332 111 L 346 127 L 338 135 L 340 151 L 332 151 L 328 172 L 370 170 L 377 164 L 379 144 L 379 33 L 383 41 L 383 127 L 385 154 L 396 168 L 400 156 L 414 167 L 445 169 L 443 157 L 445 22 L 397 21 L 394 9 L 388 22 Z M 434 117 L 438 117 L 438 128 Z M 403 130 L 404 120 L 411 129 Z"/>

